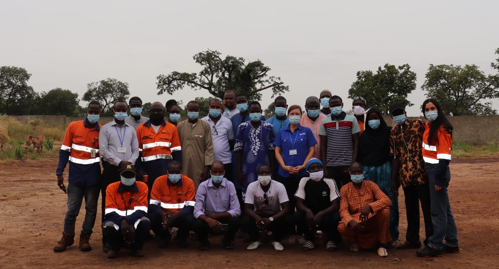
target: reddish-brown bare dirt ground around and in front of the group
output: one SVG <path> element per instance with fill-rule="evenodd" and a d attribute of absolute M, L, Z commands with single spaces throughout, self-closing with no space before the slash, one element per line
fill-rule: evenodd
<path fill-rule="evenodd" d="M 275 252 L 270 244 L 247 251 L 247 244 L 236 240 L 235 250 L 222 248 L 220 237 L 211 238 L 209 251 L 198 250 L 190 241 L 188 249 L 159 249 L 154 241 L 145 246 L 146 257 L 134 258 L 122 250 L 117 259 L 106 259 L 101 250 L 100 223 L 90 238 L 93 250 L 80 252 L 75 245 L 63 253 L 52 248 L 60 239 L 66 195 L 57 187 L 54 175 L 57 159 L 9 161 L 0 164 L 0 268 L 111 268 L 116 266 L 149 268 L 499 268 L 499 158 L 459 160 L 451 163 L 449 187 L 456 218 L 460 254 L 442 258 L 417 258 L 414 250 L 388 250 L 387 258 L 375 251 L 352 253 L 343 242 L 336 253 L 322 246 L 304 253 L 299 246 L 284 245 Z M 67 170 L 67 169 L 66 169 Z M 64 176 L 66 178 L 67 175 Z M 66 182 L 67 185 L 67 182 Z M 405 206 L 400 191 L 400 238 L 405 239 Z M 100 208 L 100 205 L 99 205 Z M 84 208 L 77 219 L 80 230 Z M 98 219 L 100 217 L 98 216 Z M 423 221 L 421 221 L 423 223 Z M 422 236 L 424 235 L 422 228 Z M 423 240 L 423 239 L 421 239 Z"/>

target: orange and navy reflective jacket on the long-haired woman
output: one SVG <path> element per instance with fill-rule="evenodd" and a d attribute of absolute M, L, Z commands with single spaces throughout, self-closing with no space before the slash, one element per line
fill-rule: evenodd
<path fill-rule="evenodd" d="M 430 125 L 426 124 L 423 133 L 423 159 L 427 163 L 439 163 L 439 159 L 451 160 L 452 136 L 441 125 L 438 129 L 438 141 L 428 143 Z"/>

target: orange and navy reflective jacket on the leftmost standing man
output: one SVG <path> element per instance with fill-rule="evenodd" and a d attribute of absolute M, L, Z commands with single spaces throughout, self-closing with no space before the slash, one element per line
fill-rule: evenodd
<path fill-rule="evenodd" d="M 87 120 L 72 122 L 66 129 L 55 174 L 62 175 L 69 161 L 68 182 L 85 186 L 100 184 L 99 131 L 102 126 L 88 127 Z M 94 156 L 92 157 L 92 152 Z"/>

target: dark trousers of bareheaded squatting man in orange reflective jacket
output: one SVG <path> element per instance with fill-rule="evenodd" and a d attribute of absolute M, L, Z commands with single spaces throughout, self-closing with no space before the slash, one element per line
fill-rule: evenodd
<path fill-rule="evenodd" d="M 185 217 L 180 216 L 173 222 L 172 226 L 163 229 L 163 218 L 161 216 L 149 214 L 147 217 L 151 220 L 151 230 L 153 230 L 157 237 L 163 240 L 170 240 L 172 238 L 170 231 L 168 231 L 168 228 L 172 227 L 179 228 L 177 231 L 177 238 L 179 240 L 186 240 L 194 223 L 194 215 L 190 213 Z"/>

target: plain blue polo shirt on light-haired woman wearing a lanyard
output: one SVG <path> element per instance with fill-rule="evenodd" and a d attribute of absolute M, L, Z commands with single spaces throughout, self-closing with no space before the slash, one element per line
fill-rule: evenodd
<path fill-rule="evenodd" d="M 294 133 L 291 133 L 289 126 L 281 129 L 279 133 L 275 134 L 274 140 L 274 145 L 281 148 L 281 156 L 284 164 L 293 167 L 303 165 L 308 154 L 308 148 L 314 146 L 316 143 L 317 140 L 313 136 L 312 130 L 299 124 Z M 289 150 L 291 149 L 296 149 L 296 154 L 289 155 Z M 304 176 L 305 174 L 306 171 L 303 169 L 297 175 L 292 176 Z M 279 175 L 283 177 L 291 176 L 280 165 Z"/>

